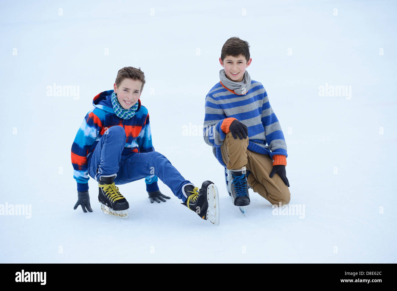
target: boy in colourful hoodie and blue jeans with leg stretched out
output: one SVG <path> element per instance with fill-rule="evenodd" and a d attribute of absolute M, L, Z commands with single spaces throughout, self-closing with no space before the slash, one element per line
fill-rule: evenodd
<path fill-rule="evenodd" d="M 160 203 L 170 197 L 160 192 L 159 177 L 183 205 L 202 219 L 219 224 L 214 183 L 205 181 L 198 189 L 165 156 L 154 151 L 148 110 L 139 99 L 144 84 L 140 68 L 124 67 L 118 71 L 113 89 L 94 97 L 94 108 L 85 116 L 71 147 L 78 197 L 74 209 L 81 205 L 84 212 L 93 211 L 88 192 L 91 176 L 98 181 L 102 211 L 126 219 L 129 204 L 116 184 L 145 179 L 150 202 Z"/>

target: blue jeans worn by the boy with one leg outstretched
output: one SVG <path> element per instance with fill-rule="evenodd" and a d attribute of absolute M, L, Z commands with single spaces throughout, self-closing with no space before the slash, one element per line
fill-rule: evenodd
<path fill-rule="evenodd" d="M 98 181 L 100 176 L 111 176 L 117 173 L 114 183 L 118 185 L 143 178 L 146 178 L 146 184 L 152 184 L 159 177 L 170 187 L 175 196 L 185 202 L 186 197 L 182 193 L 182 186 L 191 184 L 190 181 L 185 180 L 170 161 L 159 152 L 140 152 L 122 156 L 121 152 L 126 139 L 123 127 L 109 127 L 87 158 L 89 175 Z"/>

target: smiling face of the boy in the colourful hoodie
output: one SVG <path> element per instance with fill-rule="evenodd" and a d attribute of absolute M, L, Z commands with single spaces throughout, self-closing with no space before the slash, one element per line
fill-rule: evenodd
<path fill-rule="evenodd" d="M 124 109 L 131 108 L 141 97 L 142 82 L 140 80 L 125 78 L 118 87 L 116 83 L 113 87 L 114 93 L 117 94 L 117 99 Z"/>

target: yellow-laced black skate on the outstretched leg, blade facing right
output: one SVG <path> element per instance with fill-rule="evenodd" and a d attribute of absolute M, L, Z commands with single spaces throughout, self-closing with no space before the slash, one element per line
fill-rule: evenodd
<path fill-rule="evenodd" d="M 214 183 L 204 181 L 200 190 L 192 184 L 186 184 L 183 190 L 187 195 L 187 200 L 182 203 L 183 205 L 195 211 L 202 219 L 219 225 L 218 188 Z"/>

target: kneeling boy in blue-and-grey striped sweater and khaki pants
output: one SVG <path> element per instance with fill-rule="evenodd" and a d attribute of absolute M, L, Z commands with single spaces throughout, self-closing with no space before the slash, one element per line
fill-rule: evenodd
<path fill-rule="evenodd" d="M 225 167 L 229 195 L 234 205 L 247 206 L 249 186 L 271 204 L 288 204 L 287 145 L 266 90 L 246 70 L 248 42 L 229 38 L 219 61 L 224 69 L 206 96 L 203 134 Z"/>

